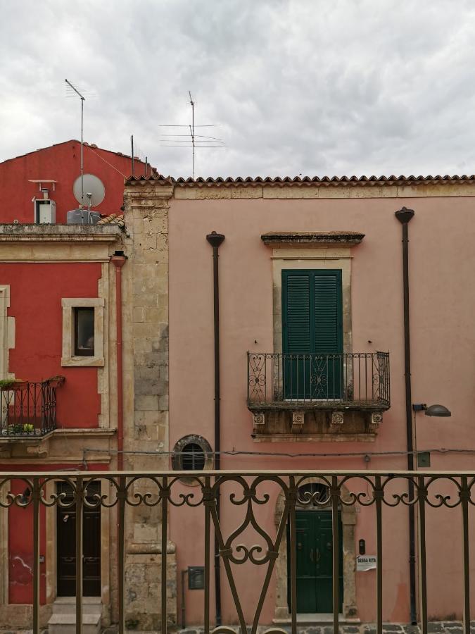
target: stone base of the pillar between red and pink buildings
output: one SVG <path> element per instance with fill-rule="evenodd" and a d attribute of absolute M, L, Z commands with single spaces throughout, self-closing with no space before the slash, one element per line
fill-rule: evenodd
<path fill-rule="evenodd" d="M 160 630 L 161 554 L 127 554 L 125 558 L 125 627 Z M 167 554 L 167 623 L 177 629 L 177 558 Z"/>

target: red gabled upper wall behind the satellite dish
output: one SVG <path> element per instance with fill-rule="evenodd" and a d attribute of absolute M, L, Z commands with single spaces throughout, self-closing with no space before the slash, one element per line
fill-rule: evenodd
<path fill-rule="evenodd" d="M 99 155 L 99 156 L 98 156 Z M 134 161 L 134 174 L 145 173 L 145 164 Z M 105 215 L 122 213 L 124 178 L 132 173 L 132 161 L 127 156 L 116 154 L 98 147 L 84 146 L 84 173 L 99 176 L 106 187 L 103 202 L 94 207 Z M 148 168 L 151 173 L 151 168 Z M 41 178 L 57 180 L 56 189 L 48 187 L 49 198 L 56 202 L 56 222 L 65 223 L 66 213 L 77 209 L 77 201 L 72 194 L 72 185 L 80 175 L 80 142 L 66 141 L 51 147 L 32 151 L 0 163 L 0 223 L 34 222 L 32 198 L 43 197 L 39 184 L 28 182 Z"/>

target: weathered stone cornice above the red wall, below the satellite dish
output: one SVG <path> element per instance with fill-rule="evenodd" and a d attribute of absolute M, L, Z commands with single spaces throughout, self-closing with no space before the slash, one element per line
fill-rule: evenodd
<path fill-rule="evenodd" d="M 1 242 L 116 242 L 118 225 L 0 225 Z"/>

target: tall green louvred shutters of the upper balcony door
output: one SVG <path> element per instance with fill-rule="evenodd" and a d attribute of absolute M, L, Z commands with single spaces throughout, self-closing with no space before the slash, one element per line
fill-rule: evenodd
<path fill-rule="evenodd" d="M 284 398 L 341 398 L 341 270 L 282 271 Z"/>

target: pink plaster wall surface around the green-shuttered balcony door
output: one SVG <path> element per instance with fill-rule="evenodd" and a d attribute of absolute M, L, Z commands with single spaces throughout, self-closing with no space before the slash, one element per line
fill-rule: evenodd
<path fill-rule="evenodd" d="M 222 449 L 274 452 L 355 452 L 405 450 L 405 391 L 401 226 L 394 212 L 415 210 L 410 223 L 410 293 L 413 402 L 443 403 L 452 418 L 419 414 L 419 449 L 475 449 L 473 423 L 475 364 L 475 271 L 473 209 L 470 197 L 430 199 L 173 200 L 170 206 L 170 447 L 199 433 L 213 445 L 213 263 L 205 235 L 226 235 L 220 247 Z M 260 443 L 251 438 L 246 408 L 246 351 L 272 352 L 272 249 L 260 235 L 269 231 L 364 232 L 353 247 L 353 351 L 391 353 L 391 409 L 374 443 Z M 255 340 L 258 341 L 255 344 Z M 372 344 L 368 343 L 372 341 Z M 186 397 L 185 397 L 186 395 Z M 224 456 L 226 469 L 406 468 L 405 456 L 326 459 Z M 433 469 L 473 469 L 469 454 L 432 454 Z M 223 504 L 224 523 L 237 517 Z M 234 514 L 234 515 L 233 515 Z M 432 521 L 432 516 L 435 517 Z M 460 509 L 429 514 L 429 615 L 462 614 Z M 171 538 L 177 543 L 179 571 L 203 564 L 202 528 L 196 517 L 172 509 Z M 260 509 L 274 531 L 274 505 Z M 428 518 L 429 521 L 429 518 Z M 189 535 L 194 535 L 190 540 Z M 375 552 L 372 510 L 357 514 L 356 540 Z M 251 540 L 251 543 L 253 541 Z M 407 511 L 384 511 L 384 619 L 408 620 Z M 472 549 L 473 552 L 473 549 Z M 471 561 L 475 568 L 475 559 Z M 238 571 L 241 601 L 251 619 L 263 571 Z M 443 581 L 441 578 L 443 577 Z M 251 583 L 250 580 L 252 579 Z M 375 618 L 374 571 L 357 573 L 357 605 L 362 621 Z M 236 622 L 223 581 L 224 623 Z M 203 592 L 186 591 L 189 623 L 203 620 Z M 262 623 L 274 616 L 274 583 Z M 472 599 L 475 608 L 475 597 Z"/>

